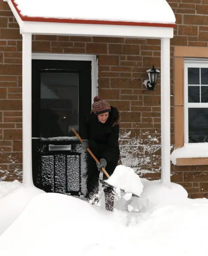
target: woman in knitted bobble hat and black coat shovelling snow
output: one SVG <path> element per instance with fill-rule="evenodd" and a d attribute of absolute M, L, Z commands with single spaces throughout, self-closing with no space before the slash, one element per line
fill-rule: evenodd
<path fill-rule="evenodd" d="M 87 199 L 97 201 L 99 188 L 99 175 L 104 167 L 109 175 L 113 174 L 120 158 L 118 144 L 119 124 L 121 118 L 117 108 L 100 97 L 94 97 L 91 114 L 82 129 L 82 148 L 89 147 L 98 159 L 96 163 L 88 154 L 88 178 L 87 178 Z M 103 180 L 107 177 L 103 174 Z M 110 187 L 104 187 L 105 208 L 113 210 L 114 191 Z"/>

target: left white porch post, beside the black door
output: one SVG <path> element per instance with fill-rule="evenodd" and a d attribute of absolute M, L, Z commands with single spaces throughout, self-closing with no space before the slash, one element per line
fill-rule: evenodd
<path fill-rule="evenodd" d="M 23 185 L 33 186 L 32 176 L 32 34 L 23 33 Z"/>

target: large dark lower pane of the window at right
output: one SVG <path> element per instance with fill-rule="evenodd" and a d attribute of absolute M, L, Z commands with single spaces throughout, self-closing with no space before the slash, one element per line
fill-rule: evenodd
<path fill-rule="evenodd" d="M 188 108 L 188 142 L 208 142 L 208 108 Z"/>

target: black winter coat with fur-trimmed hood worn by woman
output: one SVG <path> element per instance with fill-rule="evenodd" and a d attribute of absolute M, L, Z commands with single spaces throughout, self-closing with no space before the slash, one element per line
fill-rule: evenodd
<path fill-rule="evenodd" d="M 104 124 L 91 112 L 81 130 L 81 137 L 89 140 L 89 148 L 93 154 L 98 160 L 104 158 L 107 163 L 120 157 L 118 138 L 121 116 L 117 108 L 110 108 L 111 111 Z"/>

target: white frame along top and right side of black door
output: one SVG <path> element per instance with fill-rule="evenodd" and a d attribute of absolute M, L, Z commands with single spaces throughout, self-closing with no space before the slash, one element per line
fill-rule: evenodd
<path fill-rule="evenodd" d="M 98 95 L 98 61 L 96 55 L 32 53 L 32 59 L 91 61 L 91 103 L 93 103 L 93 98 Z"/>

